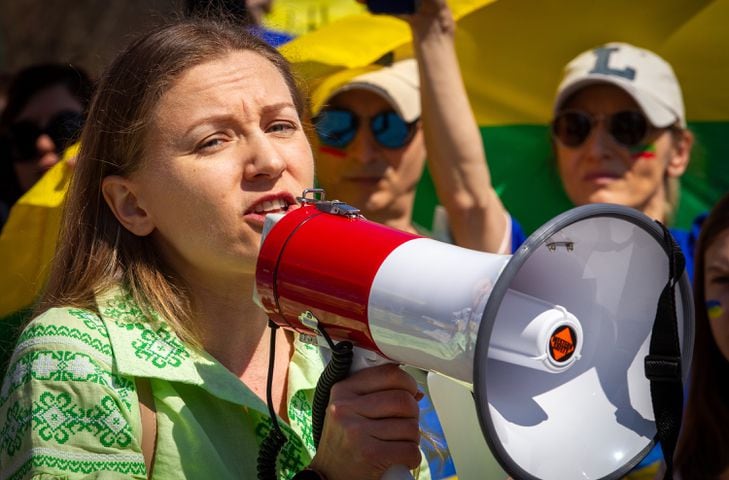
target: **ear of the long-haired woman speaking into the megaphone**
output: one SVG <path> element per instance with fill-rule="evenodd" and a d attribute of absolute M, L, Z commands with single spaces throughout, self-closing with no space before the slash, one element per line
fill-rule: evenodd
<path fill-rule="evenodd" d="M 102 181 L 101 191 L 107 205 L 124 228 L 140 237 L 152 233 L 154 222 L 149 212 L 140 205 L 131 180 L 109 175 Z"/>

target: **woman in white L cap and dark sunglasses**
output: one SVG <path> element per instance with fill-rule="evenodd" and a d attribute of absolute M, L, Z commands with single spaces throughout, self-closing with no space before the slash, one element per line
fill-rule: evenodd
<path fill-rule="evenodd" d="M 694 138 L 678 79 L 664 59 L 627 43 L 575 57 L 557 89 L 552 134 L 562 185 L 575 205 L 615 203 L 670 222 Z M 699 225 L 670 229 L 689 276 Z M 656 447 L 634 475 L 655 471 L 660 459 Z"/>

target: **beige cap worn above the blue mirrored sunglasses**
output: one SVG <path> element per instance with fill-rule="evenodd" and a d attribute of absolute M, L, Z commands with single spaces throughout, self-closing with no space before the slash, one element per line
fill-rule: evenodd
<path fill-rule="evenodd" d="M 386 67 L 369 67 L 354 77 L 344 75 L 325 82 L 313 94 L 314 115 L 335 95 L 349 90 L 369 90 L 383 97 L 406 122 L 420 117 L 420 77 L 415 59 L 401 60 Z"/>

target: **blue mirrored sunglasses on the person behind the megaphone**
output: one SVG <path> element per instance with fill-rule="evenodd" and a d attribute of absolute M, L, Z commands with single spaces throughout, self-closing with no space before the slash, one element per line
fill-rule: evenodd
<path fill-rule="evenodd" d="M 314 117 L 314 126 L 319 141 L 327 146 L 344 148 L 354 140 L 359 128 L 360 118 L 349 110 L 326 109 Z M 369 121 L 370 131 L 375 141 L 382 147 L 402 148 L 412 140 L 415 124 L 406 122 L 393 110 L 378 113 Z"/>

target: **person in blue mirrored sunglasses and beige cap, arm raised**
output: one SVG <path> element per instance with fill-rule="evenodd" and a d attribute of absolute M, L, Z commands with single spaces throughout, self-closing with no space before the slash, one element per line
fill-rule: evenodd
<path fill-rule="evenodd" d="M 478 124 L 454 48 L 444 0 L 423 0 L 398 15 L 411 29 L 415 58 L 345 70 L 312 92 L 317 182 L 327 197 L 369 220 L 428 234 L 413 221 L 426 161 L 447 234 L 468 248 L 510 252 L 523 233 L 491 187 Z M 484 181 L 485 179 L 485 181 Z M 491 235 L 497 231 L 498 235 Z"/>

